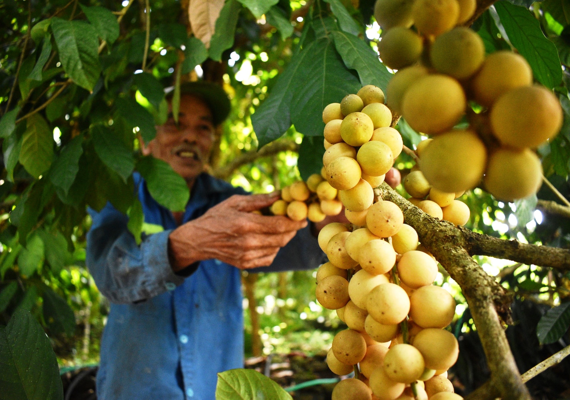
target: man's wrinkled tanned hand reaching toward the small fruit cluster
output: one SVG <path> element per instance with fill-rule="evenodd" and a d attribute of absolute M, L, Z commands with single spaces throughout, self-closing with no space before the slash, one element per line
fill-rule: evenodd
<path fill-rule="evenodd" d="M 169 252 L 173 270 L 213 258 L 241 270 L 269 266 L 279 248 L 307 226 L 307 221 L 251 213 L 277 199 L 279 194 L 233 195 L 172 231 Z"/>

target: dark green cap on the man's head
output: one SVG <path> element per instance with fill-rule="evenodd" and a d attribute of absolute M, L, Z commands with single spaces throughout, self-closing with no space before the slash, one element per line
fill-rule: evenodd
<path fill-rule="evenodd" d="M 174 88 L 166 88 L 166 98 L 172 97 Z M 210 108 L 214 125 L 221 124 L 230 115 L 230 99 L 227 93 L 218 84 L 208 81 L 186 82 L 180 85 L 181 95 L 194 95 L 200 97 Z"/>

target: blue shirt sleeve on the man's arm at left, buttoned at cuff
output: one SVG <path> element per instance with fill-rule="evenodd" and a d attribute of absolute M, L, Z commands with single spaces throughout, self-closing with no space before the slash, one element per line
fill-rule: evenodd
<path fill-rule="evenodd" d="M 107 204 L 89 210 L 86 264 L 97 288 L 113 303 L 135 303 L 173 290 L 185 277 L 174 273 L 168 258 L 171 230 L 143 235 L 141 244 L 127 228 L 128 217 Z"/>

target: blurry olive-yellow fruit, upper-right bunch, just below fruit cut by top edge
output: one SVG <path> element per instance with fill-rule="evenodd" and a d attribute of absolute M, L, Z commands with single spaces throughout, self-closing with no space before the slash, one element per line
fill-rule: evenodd
<path fill-rule="evenodd" d="M 431 64 L 441 74 L 467 79 L 485 59 L 485 45 L 477 32 L 458 26 L 439 35 L 430 47 Z"/>

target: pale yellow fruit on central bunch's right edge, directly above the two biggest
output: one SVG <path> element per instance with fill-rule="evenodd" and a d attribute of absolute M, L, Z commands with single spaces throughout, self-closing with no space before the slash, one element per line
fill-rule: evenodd
<path fill-rule="evenodd" d="M 413 289 L 431 285 L 437 276 L 437 264 L 422 251 L 408 251 L 398 261 L 398 276 Z"/>

